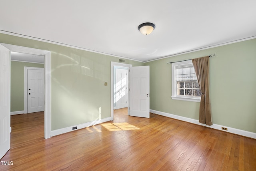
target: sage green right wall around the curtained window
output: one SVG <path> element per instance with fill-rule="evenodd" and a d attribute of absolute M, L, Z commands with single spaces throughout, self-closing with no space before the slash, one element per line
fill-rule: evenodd
<path fill-rule="evenodd" d="M 210 54 L 216 54 L 210 58 L 213 123 L 256 133 L 256 39 L 146 63 L 150 109 L 198 119 L 200 103 L 172 100 L 172 67 L 166 63 Z"/>

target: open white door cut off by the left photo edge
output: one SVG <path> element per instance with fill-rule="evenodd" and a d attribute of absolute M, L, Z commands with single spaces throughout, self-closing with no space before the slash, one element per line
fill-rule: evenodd
<path fill-rule="evenodd" d="M 0 159 L 10 149 L 10 51 L 0 45 Z"/>

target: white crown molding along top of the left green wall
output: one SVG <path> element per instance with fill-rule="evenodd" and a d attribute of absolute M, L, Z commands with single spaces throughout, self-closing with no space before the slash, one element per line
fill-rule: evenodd
<path fill-rule="evenodd" d="M 63 44 L 63 43 L 59 43 L 59 42 L 53 42 L 53 41 L 50 41 L 50 40 L 45 40 L 45 39 L 35 38 L 35 37 L 31 37 L 31 36 L 26 36 L 26 35 L 22 35 L 22 34 L 6 32 L 4 30 L 0 30 L 0 33 L 12 35 L 12 36 L 18 36 L 18 37 L 21 37 L 21 38 L 27 38 L 27 39 L 31 39 L 31 40 L 37 40 L 37 41 L 40 41 L 40 42 L 46 42 L 46 43 L 50 43 L 50 44 L 57 44 L 57 45 L 66 46 L 66 47 L 69 47 L 69 48 L 85 50 L 85 51 L 88 51 L 88 52 L 94 52 L 96 54 L 114 56 L 114 57 L 117 57 L 117 58 L 122 58 L 122 59 L 137 61 L 137 62 L 143 62 L 143 61 L 140 61 L 140 60 L 134 60 L 134 59 L 131 59 L 131 58 L 126 58 L 126 57 L 117 56 L 117 55 L 113 55 L 113 54 L 107 54 L 107 53 L 103 53 L 103 52 L 98 52 L 98 51 L 94 51 L 94 50 L 90 50 L 90 49 L 86 49 L 86 48 L 81 48 L 81 47 L 78 47 L 78 46 L 72 46 L 72 45 Z M 143 62 L 143 63 L 145 63 L 145 62 Z"/>

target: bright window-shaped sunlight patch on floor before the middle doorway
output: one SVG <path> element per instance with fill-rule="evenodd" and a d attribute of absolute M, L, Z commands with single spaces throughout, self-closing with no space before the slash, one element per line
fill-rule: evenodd
<path fill-rule="evenodd" d="M 108 129 L 108 131 L 126 131 L 126 130 L 136 130 L 140 129 L 134 125 L 131 125 L 127 122 L 122 123 L 101 123 L 103 127 Z"/>

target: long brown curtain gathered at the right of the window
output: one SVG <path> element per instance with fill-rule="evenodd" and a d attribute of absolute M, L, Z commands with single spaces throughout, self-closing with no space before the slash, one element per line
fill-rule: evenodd
<path fill-rule="evenodd" d="M 199 108 L 199 122 L 212 125 L 209 97 L 209 56 L 192 59 L 192 63 L 202 93 Z"/>

